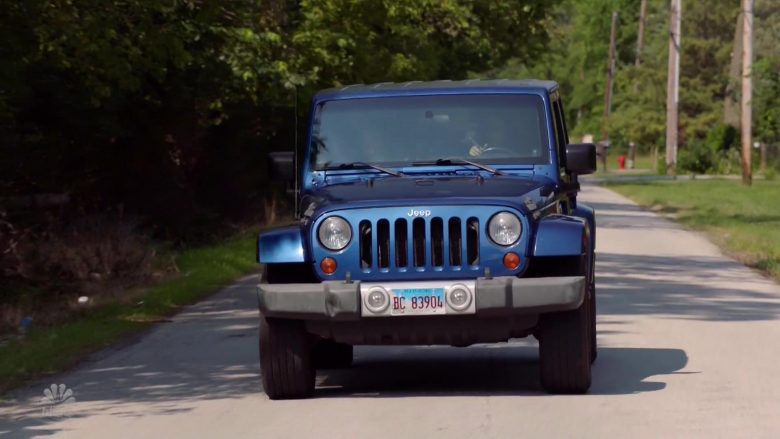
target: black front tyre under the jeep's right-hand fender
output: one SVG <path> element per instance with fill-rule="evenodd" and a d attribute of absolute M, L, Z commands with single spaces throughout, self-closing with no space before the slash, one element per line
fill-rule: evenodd
<path fill-rule="evenodd" d="M 550 393 L 585 393 L 591 382 L 590 300 L 539 322 L 542 387 Z"/>

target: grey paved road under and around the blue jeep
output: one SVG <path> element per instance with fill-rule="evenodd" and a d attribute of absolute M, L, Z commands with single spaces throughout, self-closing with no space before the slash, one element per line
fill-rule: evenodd
<path fill-rule="evenodd" d="M 269 401 L 254 279 L 3 407 L 10 436 L 780 437 L 780 287 L 599 187 L 600 356 L 588 395 L 548 396 L 533 340 L 360 348 L 317 398 Z M 76 402 L 39 403 L 51 382 Z"/>

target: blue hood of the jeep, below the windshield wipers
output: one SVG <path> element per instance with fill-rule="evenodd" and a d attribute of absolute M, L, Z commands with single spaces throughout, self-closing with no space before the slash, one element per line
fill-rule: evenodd
<path fill-rule="evenodd" d="M 532 176 L 383 177 L 319 188 L 304 196 L 303 211 L 325 207 L 431 204 L 511 204 L 533 211 L 546 204 L 555 182 Z M 313 202 L 314 206 L 310 203 Z M 314 209 L 311 209 L 314 207 Z"/>

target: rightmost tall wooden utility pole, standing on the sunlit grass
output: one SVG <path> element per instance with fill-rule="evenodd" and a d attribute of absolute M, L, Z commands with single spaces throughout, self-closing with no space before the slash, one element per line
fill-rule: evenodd
<path fill-rule="evenodd" d="M 753 168 L 750 164 L 750 147 L 753 144 L 753 0 L 742 0 L 742 17 L 742 184 L 750 186 L 753 184 Z"/>

